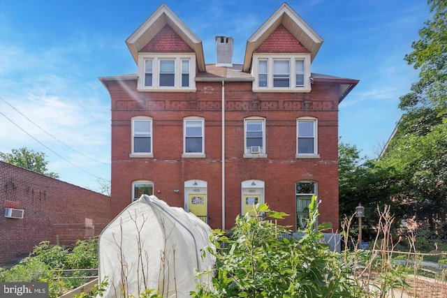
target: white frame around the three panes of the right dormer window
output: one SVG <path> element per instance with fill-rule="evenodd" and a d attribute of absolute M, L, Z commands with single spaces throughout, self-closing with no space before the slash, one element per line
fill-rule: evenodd
<path fill-rule="evenodd" d="M 273 60 L 288 59 L 289 62 L 289 87 L 273 87 Z M 259 60 L 267 60 L 267 87 L 259 87 Z M 296 87 L 295 61 L 305 61 L 305 86 Z M 251 75 L 254 77 L 253 91 L 256 92 L 302 92 L 308 93 L 312 90 L 310 82 L 310 54 L 254 54 Z"/>

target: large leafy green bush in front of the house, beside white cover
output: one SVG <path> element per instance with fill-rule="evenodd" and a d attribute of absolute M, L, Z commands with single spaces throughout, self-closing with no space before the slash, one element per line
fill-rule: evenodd
<path fill-rule="evenodd" d="M 280 219 L 286 214 L 257 204 L 254 216 L 246 214 L 236 220 L 230 234 L 215 230 L 207 253 L 217 259 L 212 272 L 212 287 L 199 285 L 196 298 L 214 297 L 351 297 L 349 271 L 340 258 L 323 243 L 318 225 L 316 197 L 309 204 L 307 228 L 300 239 L 286 237 L 288 227 L 261 217 Z M 345 268 L 345 269 L 344 269 Z"/>

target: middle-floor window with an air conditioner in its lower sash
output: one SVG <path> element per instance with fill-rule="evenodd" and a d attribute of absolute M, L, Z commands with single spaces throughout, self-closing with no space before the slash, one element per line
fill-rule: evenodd
<path fill-rule="evenodd" d="M 265 157 L 265 119 L 245 119 L 245 157 Z"/>

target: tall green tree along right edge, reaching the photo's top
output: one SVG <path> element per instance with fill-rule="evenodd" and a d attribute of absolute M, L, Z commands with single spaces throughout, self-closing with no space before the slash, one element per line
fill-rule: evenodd
<path fill-rule="evenodd" d="M 404 58 L 420 70 L 419 80 L 400 98 L 404 114 L 376 167 L 393 182 L 393 202 L 434 231 L 447 214 L 447 0 L 428 4 L 432 18 Z"/>

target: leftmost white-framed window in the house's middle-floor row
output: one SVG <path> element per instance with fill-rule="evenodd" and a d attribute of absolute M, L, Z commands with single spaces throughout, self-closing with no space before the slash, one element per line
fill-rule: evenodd
<path fill-rule="evenodd" d="M 152 157 L 152 118 L 132 118 L 131 157 Z"/>

